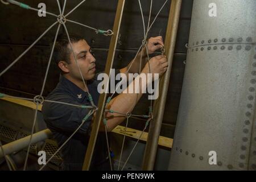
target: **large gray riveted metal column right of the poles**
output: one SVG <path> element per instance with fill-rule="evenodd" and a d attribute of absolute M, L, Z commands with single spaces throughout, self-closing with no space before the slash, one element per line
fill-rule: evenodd
<path fill-rule="evenodd" d="M 193 4 L 171 170 L 255 167 L 256 1 L 216 0 L 217 17 L 211 2 Z"/>

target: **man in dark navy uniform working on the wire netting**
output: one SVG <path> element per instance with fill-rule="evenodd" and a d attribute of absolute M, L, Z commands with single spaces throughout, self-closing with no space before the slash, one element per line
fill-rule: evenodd
<path fill-rule="evenodd" d="M 46 97 L 46 100 L 65 102 L 75 105 L 90 105 L 88 98 L 88 90 L 92 95 L 94 104 L 97 106 L 98 97 L 100 94 L 97 91 L 97 85 L 99 81 L 95 76 L 96 60 L 91 53 L 90 46 L 85 39 L 79 36 L 71 35 L 71 42 L 73 51 L 77 59 L 77 64 L 80 67 L 82 76 L 86 82 L 86 86 L 82 81 L 79 68 L 77 67 L 76 60 L 71 51 L 67 36 L 59 36 L 57 38 L 56 46 L 53 52 L 53 59 L 56 61 L 57 66 L 60 69 L 61 76 L 59 84 L 56 88 Z M 158 36 L 150 38 L 147 42 L 148 52 L 154 53 L 157 49 L 164 46 L 162 37 Z M 142 71 L 141 73 L 159 73 L 159 76 L 166 72 L 168 62 L 166 56 L 159 55 L 150 59 L 150 71 L 146 60 L 146 49 L 143 49 L 128 73 L 138 73 L 140 57 L 142 54 Z M 128 73 L 129 66 L 116 71 L 117 73 Z M 134 84 L 134 81 L 131 82 Z M 146 84 L 140 85 L 140 89 L 145 89 Z M 88 88 L 88 90 L 87 90 Z M 128 89 L 129 86 L 126 88 Z M 118 111 L 119 113 L 130 113 L 134 106 L 137 104 L 142 93 L 121 93 L 117 97 L 114 97 L 107 105 L 108 109 Z M 59 146 L 63 144 L 67 138 L 77 129 L 81 124 L 82 119 L 89 113 L 88 109 L 82 109 L 71 105 L 63 105 L 52 102 L 44 102 L 42 113 L 44 121 L 47 123 L 47 127 L 52 131 L 53 138 L 56 139 Z M 84 161 L 86 147 L 90 137 L 90 128 L 92 126 L 92 120 L 95 117 L 95 113 L 89 117 L 89 119 L 81 126 L 80 130 L 69 140 L 68 143 L 61 150 L 61 157 L 63 158 L 62 169 L 64 170 L 81 170 L 82 163 Z M 108 131 L 114 129 L 119 125 L 125 117 L 116 113 L 106 114 L 108 123 L 106 128 Z M 101 122 L 103 123 L 103 122 Z M 108 159 L 108 148 L 106 146 L 105 126 L 100 126 L 100 132 L 98 134 L 96 146 L 94 148 L 94 154 L 90 169 L 92 170 L 109 170 L 110 163 Z"/>

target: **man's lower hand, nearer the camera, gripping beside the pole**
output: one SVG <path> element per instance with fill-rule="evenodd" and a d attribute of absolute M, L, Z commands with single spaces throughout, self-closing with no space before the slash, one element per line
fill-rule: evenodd
<path fill-rule="evenodd" d="M 150 65 L 150 68 L 148 67 Z M 144 66 L 142 73 L 159 73 L 159 77 L 163 75 L 164 72 L 167 71 L 168 61 L 165 55 L 158 55 L 152 57 L 148 63 Z"/>

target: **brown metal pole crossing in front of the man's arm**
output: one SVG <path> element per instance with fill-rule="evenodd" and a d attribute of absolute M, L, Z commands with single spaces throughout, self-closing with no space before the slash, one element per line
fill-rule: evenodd
<path fill-rule="evenodd" d="M 108 75 L 110 74 L 110 69 L 112 69 L 112 65 L 113 65 L 113 61 L 114 61 L 115 47 L 117 46 L 119 28 L 121 25 L 124 5 L 125 5 L 125 0 L 118 1 L 117 12 L 115 13 L 115 20 L 114 20 L 114 26 L 113 26 L 114 34 L 110 40 L 109 53 L 108 53 L 108 58 L 106 61 L 106 67 L 105 67 L 105 73 Z M 95 146 L 97 136 L 98 136 L 98 129 L 100 127 L 100 122 L 102 122 L 102 114 L 104 113 L 106 95 L 107 95 L 106 93 L 102 93 L 100 95 L 100 99 L 98 101 L 98 110 L 97 110 L 96 117 L 93 122 L 92 133 L 90 135 L 89 144 L 88 144 L 87 151 L 85 154 L 84 165 L 82 166 L 83 171 L 89 170 L 89 168 L 90 168 L 90 162 L 92 160 L 94 146 Z"/>

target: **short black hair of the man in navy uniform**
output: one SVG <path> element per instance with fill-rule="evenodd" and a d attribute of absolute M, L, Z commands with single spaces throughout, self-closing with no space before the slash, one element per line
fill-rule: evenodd
<path fill-rule="evenodd" d="M 77 43 L 79 42 L 79 40 L 84 39 L 76 34 L 69 34 L 69 38 L 71 40 L 71 43 Z M 68 64 L 71 63 L 70 54 L 72 53 L 72 50 L 68 48 L 68 45 L 69 41 L 67 34 L 60 34 L 57 36 L 57 40 L 52 55 L 52 58 L 56 64 L 59 64 L 59 61 L 65 61 Z"/>

